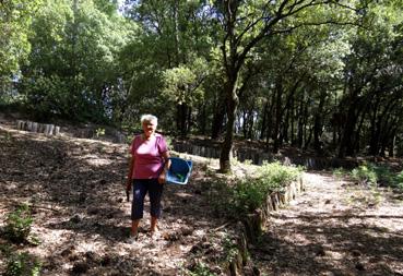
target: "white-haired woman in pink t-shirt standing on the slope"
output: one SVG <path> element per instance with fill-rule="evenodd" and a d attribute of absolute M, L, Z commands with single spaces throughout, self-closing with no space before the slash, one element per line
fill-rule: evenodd
<path fill-rule="evenodd" d="M 162 212 L 161 199 L 170 160 L 165 139 L 155 133 L 157 122 L 155 116 L 143 115 L 141 117 L 143 134 L 137 135 L 130 147 L 131 160 L 127 189 L 130 191 L 133 184 L 130 235 L 134 239 L 139 233 L 140 220 L 143 218 L 144 196 L 147 192 L 151 203 L 151 236 L 154 236 L 157 230 L 157 221 Z"/>

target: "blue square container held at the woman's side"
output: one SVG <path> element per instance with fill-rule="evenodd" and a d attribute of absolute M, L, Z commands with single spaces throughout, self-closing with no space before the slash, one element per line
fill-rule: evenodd
<path fill-rule="evenodd" d="M 166 183 L 181 185 L 187 184 L 193 163 L 191 160 L 185 160 L 178 157 L 169 157 L 169 159 L 170 168 L 166 173 Z"/>

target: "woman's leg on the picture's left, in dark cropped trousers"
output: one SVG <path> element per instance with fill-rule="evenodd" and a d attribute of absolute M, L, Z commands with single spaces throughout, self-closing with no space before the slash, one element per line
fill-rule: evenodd
<path fill-rule="evenodd" d="M 131 236 L 138 235 L 140 220 L 143 218 L 144 196 L 147 185 L 144 181 L 133 181 L 133 201 L 131 204 Z"/>

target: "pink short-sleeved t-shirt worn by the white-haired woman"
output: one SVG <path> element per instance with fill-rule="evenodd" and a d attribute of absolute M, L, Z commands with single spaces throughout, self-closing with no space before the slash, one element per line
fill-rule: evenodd
<path fill-rule="evenodd" d="M 163 135 L 155 133 L 150 141 L 137 135 L 130 146 L 134 157 L 132 179 L 158 178 L 164 168 L 163 154 L 168 151 Z"/>

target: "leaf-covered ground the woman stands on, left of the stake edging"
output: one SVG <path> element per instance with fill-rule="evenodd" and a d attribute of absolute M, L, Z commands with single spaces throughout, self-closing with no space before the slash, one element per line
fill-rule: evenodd
<path fill-rule="evenodd" d="M 43 263 L 42 275 L 186 275 L 209 259 L 223 274 L 230 231 L 212 215 L 199 164 L 191 183 L 166 185 L 161 235 L 149 237 L 149 202 L 139 241 L 128 241 L 128 146 L 45 136 L 0 124 L 0 228 L 19 203 L 32 205 L 39 245 L 13 245 Z M 0 245 L 7 240 L 0 236 Z M 0 260 L 0 274 L 5 257 Z M 197 267 L 195 267 L 197 268 Z"/>

